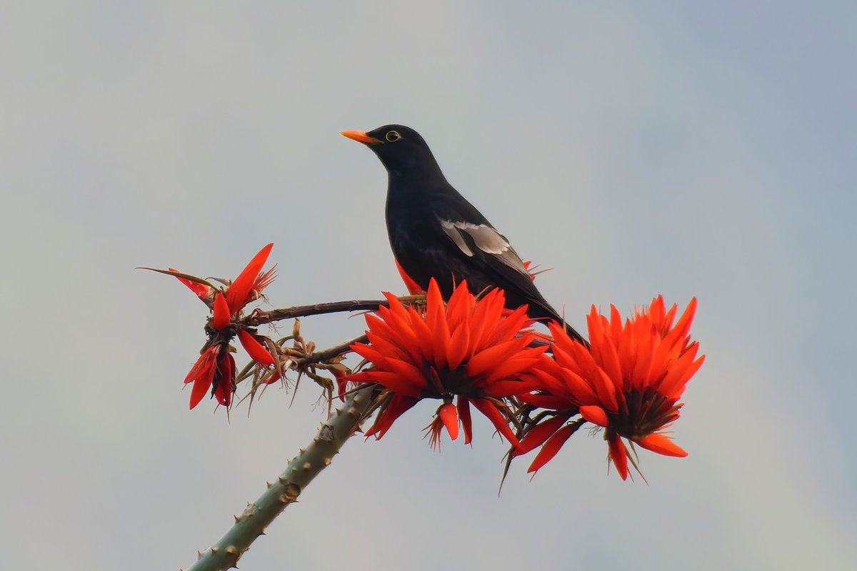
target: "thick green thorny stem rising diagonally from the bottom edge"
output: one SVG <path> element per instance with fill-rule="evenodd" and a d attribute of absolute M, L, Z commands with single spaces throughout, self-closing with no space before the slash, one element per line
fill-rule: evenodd
<path fill-rule="evenodd" d="M 199 559 L 187 571 L 225 571 L 237 567 L 238 559 L 249 550 L 256 538 L 288 506 L 297 502 L 301 491 L 315 476 L 330 465 L 333 456 L 357 430 L 374 401 L 373 386 L 356 390 L 345 404 L 321 424 L 321 429 L 306 448 L 300 450 L 285 472 L 253 503 L 247 504 L 241 515 L 216 544 L 201 551 Z"/>

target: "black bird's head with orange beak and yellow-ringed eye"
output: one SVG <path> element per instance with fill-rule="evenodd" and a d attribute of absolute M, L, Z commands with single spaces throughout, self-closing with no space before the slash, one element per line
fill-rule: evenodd
<path fill-rule="evenodd" d="M 342 131 L 341 134 L 372 149 L 390 173 L 440 170 L 423 137 L 410 127 L 384 125 L 365 133 Z"/>

